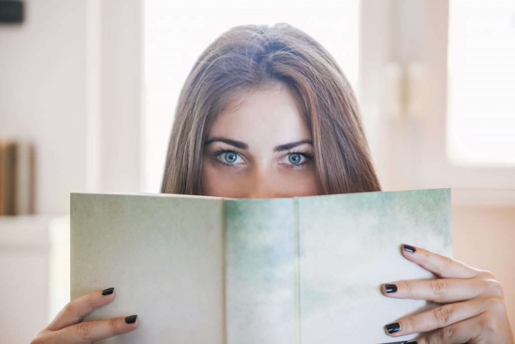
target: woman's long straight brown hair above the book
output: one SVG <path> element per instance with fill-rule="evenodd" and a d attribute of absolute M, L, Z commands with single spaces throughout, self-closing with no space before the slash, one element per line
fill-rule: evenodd
<path fill-rule="evenodd" d="M 201 194 L 210 125 L 244 91 L 285 85 L 311 130 L 324 194 L 380 191 L 354 93 L 334 58 L 288 24 L 236 26 L 198 58 L 179 96 L 162 193 Z"/>

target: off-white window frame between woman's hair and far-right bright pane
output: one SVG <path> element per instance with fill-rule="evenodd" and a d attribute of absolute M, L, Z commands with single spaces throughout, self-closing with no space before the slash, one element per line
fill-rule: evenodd
<path fill-rule="evenodd" d="M 362 0 L 361 15 L 359 93 L 383 188 L 451 187 L 454 205 L 515 205 L 515 168 L 447 156 L 448 1 Z M 413 75 L 413 65 L 422 73 Z M 410 97 L 417 113 L 407 111 Z M 385 110 L 392 102 L 394 114 Z"/>

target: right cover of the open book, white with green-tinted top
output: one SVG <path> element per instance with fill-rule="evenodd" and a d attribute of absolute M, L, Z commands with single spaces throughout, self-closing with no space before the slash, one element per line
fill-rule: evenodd
<path fill-rule="evenodd" d="M 296 201 L 302 344 L 392 341 L 383 325 L 435 306 L 387 298 L 380 287 L 433 277 L 402 257 L 402 243 L 452 255 L 450 189 Z"/>

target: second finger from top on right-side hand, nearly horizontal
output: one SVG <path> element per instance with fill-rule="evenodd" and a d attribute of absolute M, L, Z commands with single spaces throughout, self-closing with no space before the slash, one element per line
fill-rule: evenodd
<path fill-rule="evenodd" d="M 476 298 L 488 288 L 488 281 L 480 278 L 409 280 L 384 284 L 383 294 L 394 299 L 447 303 Z"/>

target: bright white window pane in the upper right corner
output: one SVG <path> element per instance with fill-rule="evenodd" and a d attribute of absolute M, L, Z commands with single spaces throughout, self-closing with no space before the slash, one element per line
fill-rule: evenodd
<path fill-rule="evenodd" d="M 515 165 L 515 2 L 449 3 L 447 153 Z"/>

